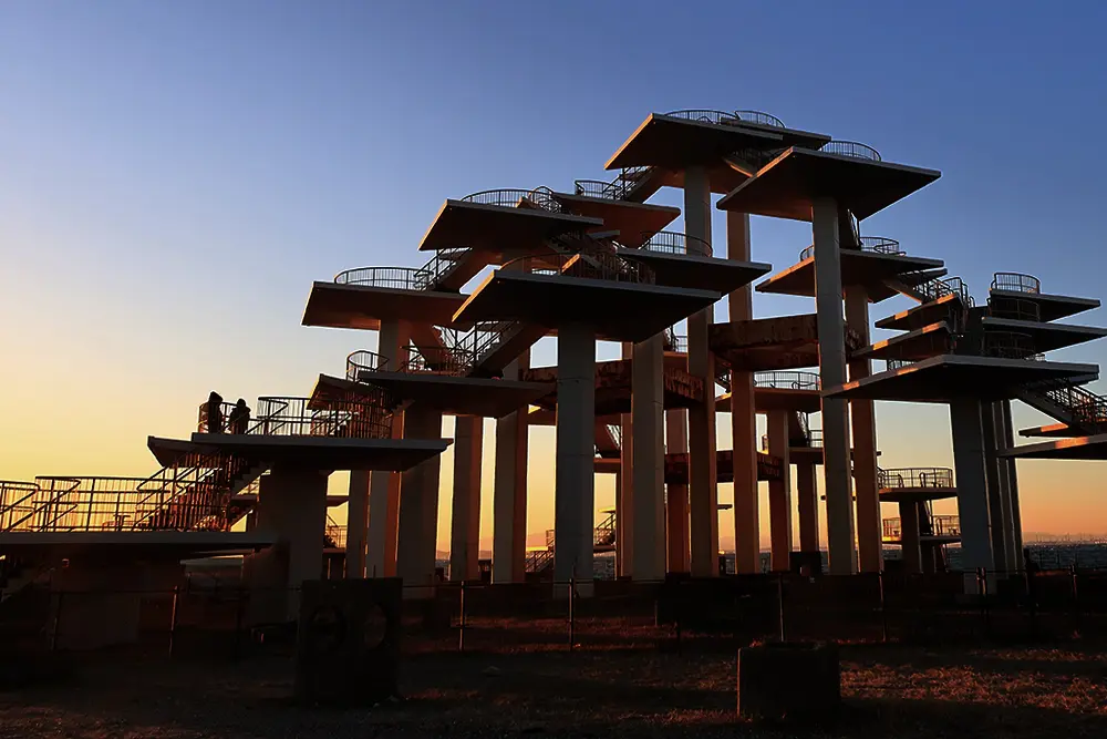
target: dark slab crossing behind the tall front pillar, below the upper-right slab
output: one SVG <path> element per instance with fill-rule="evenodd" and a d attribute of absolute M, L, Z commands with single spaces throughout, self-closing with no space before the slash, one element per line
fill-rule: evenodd
<path fill-rule="evenodd" d="M 842 287 L 853 285 L 866 287 L 870 302 L 881 302 L 899 295 L 898 291 L 884 285 L 886 280 L 910 279 L 907 276 L 911 273 L 941 268 L 944 265 L 941 259 L 861 252 L 860 249 L 841 249 L 839 254 L 841 255 Z M 807 257 L 784 271 L 773 275 L 757 286 L 757 291 L 814 298 L 815 257 Z"/>

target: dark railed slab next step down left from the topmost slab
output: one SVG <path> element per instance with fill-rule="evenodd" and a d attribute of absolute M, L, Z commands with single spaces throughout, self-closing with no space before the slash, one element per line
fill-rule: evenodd
<path fill-rule="evenodd" d="M 505 247 L 527 252 L 573 230 L 598 228 L 600 218 L 550 213 L 532 207 L 504 207 L 466 201 L 446 201 L 427 228 L 421 252 L 458 246 L 499 253 Z"/>

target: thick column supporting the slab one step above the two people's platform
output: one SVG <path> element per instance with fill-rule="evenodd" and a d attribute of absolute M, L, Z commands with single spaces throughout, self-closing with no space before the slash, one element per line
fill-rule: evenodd
<path fill-rule="evenodd" d="M 439 439 L 442 413 L 427 408 L 408 408 L 404 413 L 407 439 Z M 438 533 L 438 475 L 436 454 L 401 474 L 400 538 L 396 543 L 396 575 L 405 586 L 432 585 Z M 430 591 L 407 589 L 407 597 L 425 597 Z"/>

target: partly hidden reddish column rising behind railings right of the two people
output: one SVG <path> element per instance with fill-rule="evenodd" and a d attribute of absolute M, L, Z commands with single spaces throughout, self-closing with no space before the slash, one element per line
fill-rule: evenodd
<path fill-rule="evenodd" d="M 387 361 L 387 367 L 397 369 L 407 361 L 407 341 L 411 327 L 406 321 L 382 321 L 376 350 Z M 392 415 L 392 438 L 404 435 L 403 412 Z M 360 503 L 354 499 L 361 495 L 361 475 L 350 475 L 350 511 L 353 513 Z M 369 522 L 365 558 L 363 566 L 351 568 L 346 564 L 349 577 L 392 577 L 396 574 L 396 538 L 400 527 L 400 473 L 376 470 L 369 475 Z M 350 538 L 354 531 L 346 531 L 346 552 L 350 552 Z M 349 554 L 348 554 L 349 556 Z M 351 572 L 353 569 L 353 572 Z M 362 574 L 364 573 L 364 574 Z"/>

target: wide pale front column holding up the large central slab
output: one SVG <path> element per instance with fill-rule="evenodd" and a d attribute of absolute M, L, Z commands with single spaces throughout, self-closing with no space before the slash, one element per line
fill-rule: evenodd
<path fill-rule="evenodd" d="M 575 576 L 583 584 L 579 592 L 590 594 L 596 528 L 596 333 L 591 328 L 558 327 L 557 372 L 554 578 L 568 582 Z"/>

